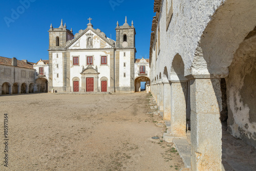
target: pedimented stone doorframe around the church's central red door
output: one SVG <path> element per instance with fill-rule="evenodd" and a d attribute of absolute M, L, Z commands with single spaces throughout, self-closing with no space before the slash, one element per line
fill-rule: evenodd
<path fill-rule="evenodd" d="M 96 66 L 96 68 L 94 69 L 92 67 L 92 65 L 89 65 L 86 69 L 82 68 L 82 72 L 81 74 L 81 81 L 82 81 L 82 87 L 81 87 L 81 92 L 85 92 L 86 91 L 86 78 L 94 78 L 93 82 L 94 82 L 94 92 L 99 92 L 99 72 L 98 72 L 98 68 Z"/>

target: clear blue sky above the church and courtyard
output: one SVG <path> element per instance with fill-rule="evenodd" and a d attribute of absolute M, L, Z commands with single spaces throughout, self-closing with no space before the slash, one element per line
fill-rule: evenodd
<path fill-rule="evenodd" d="M 59 27 L 61 18 L 75 34 L 87 28 L 91 17 L 94 29 L 99 28 L 116 40 L 117 20 L 123 25 L 127 16 L 127 22 L 131 25 L 133 20 L 136 29 L 136 58 L 148 58 L 153 6 L 153 0 L 2 1 L 0 56 L 31 62 L 48 59 L 48 30 L 51 23 L 54 28 Z"/>

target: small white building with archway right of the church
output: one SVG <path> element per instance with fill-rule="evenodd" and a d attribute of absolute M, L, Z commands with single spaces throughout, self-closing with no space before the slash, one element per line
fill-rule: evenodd
<path fill-rule="evenodd" d="M 136 59 L 134 63 L 135 92 L 140 92 L 141 82 L 145 85 L 145 89 L 150 88 L 150 63 L 149 59 Z"/>

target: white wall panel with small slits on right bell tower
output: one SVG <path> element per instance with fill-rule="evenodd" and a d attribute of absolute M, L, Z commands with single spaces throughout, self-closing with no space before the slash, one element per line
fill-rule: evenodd
<path fill-rule="evenodd" d="M 125 52 L 125 56 L 124 55 Z M 130 87 L 131 86 L 131 53 L 130 51 L 117 51 L 119 53 L 119 87 Z M 123 63 L 125 67 L 123 67 Z M 123 73 L 126 74 L 126 77 L 123 77 Z"/>

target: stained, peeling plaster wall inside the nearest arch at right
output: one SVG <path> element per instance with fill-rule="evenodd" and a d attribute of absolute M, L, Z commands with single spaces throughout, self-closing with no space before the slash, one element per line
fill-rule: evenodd
<path fill-rule="evenodd" d="M 256 36 L 234 54 L 226 84 L 229 131 L 256 147 Z"/>

